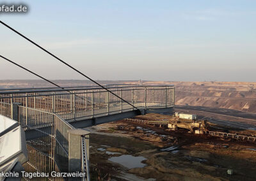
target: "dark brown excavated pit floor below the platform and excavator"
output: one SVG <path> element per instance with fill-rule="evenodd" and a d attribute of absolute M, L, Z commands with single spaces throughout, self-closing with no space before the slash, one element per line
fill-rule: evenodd
<path fill-rule="evenodd" d="M 168 120 L 148 114 L 137 119 Z M 224 121 L 224 120 L 223 120 Z M 211 129 L 256 135 L 256 131 L 210 123 Z M 256 143 L 170 131 L 120 120 L 90 129 L 93 178 L 103 180 L 255 180 Z M 124 160 L 118 160 L 124 156 Z M 127 159 L 128 158 L 128 159 Z M 140 160 L 140 164 L 136 159 Z M 131 162 L 127 166 L 125 162 Z M 133 165 L 134 164 L 134 165 Z M 227 170 L 234 171 L 228 175 Z"/>

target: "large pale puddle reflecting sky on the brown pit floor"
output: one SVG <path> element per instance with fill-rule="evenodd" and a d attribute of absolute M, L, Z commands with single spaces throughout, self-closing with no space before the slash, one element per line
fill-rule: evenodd
<path fill-rule="evenodd" d="M 111 157 L 108 159 L 109 161 L 113 161 L 115 163 L 122 164 L 123 166 L 131 169 L 131 168 L 143 168 L 147 164 L 141 163 L 141 161 L 146 160 L 145 157 L 134 157 L 131 155 L 122 155 L 120 157 Z"/>

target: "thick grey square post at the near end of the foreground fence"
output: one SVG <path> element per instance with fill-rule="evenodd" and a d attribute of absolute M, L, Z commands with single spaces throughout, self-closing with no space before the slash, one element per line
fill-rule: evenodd
<path fill-rule="evenodd" d="M 68 142 L 68 171 L 70 173 L 76 173 L 76 171 L 82 171 L 86 169 L 86 173 L 90 173 L 89 170 L 89 138 L 90 131 L 85 129 L 70 129 L 68 130 L 69 142 Z M 83 145 L 83 140 L 85 145 Z M 86 152 L 86 156 L 84 155 Z M 86 166 L 84 166 L 84 163 Z M 77 178 L 70 178 L 70 180 L 78 180 Z M 79 179 L 81 180 L 81 178 Z M 87 179 L 89 181 L 90 178 Z"/>

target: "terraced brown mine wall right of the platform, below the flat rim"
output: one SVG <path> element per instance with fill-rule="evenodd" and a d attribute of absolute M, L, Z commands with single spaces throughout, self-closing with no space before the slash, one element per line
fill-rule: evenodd
<path fill-rule="evenodd" d="M 190 91 L 175 89 L 175 105 L 229 108 L 256 113 L 256 92 L 250 91 Z"/>

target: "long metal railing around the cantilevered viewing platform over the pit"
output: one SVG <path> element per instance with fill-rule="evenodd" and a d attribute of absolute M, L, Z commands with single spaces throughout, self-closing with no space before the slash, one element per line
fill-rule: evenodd
<path fill-rule="evenodd" d="M 140 109 L 166 108 L 174 105 L 173 85 L 122 85 L 107 86 L 125 101 Z M 22 103 L 23 106 L 58 113 L 63 119 L 95 117 L 99 115 L 134 110 L 100 87 L 73 87 L 63 89 L 2 90 L 2 102 Z"/>

